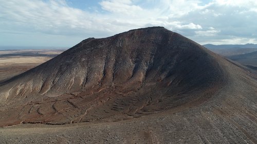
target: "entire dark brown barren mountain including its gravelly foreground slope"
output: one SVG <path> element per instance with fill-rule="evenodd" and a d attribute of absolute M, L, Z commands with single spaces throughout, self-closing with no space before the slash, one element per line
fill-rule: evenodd
<path fill-rule="evenodd" d="M 2 81 L 0 141 L 257 143 L 256 102 L 252 70 L 162 27 L 137 29 Z"/>

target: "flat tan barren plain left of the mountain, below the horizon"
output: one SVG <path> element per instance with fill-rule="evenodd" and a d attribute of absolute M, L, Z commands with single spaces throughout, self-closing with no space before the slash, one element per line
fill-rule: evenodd
<path fill-rule="evenodd" d="M 0 51 L 0 81 L 38 66 L 63 51 L 2 50 Z"/>

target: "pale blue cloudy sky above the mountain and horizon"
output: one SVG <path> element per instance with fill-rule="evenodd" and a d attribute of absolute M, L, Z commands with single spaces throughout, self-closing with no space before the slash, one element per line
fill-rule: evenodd
<path fill-rule="evenodd" d="M 163 26 L 199 44 L 257 44 L 255 0 L 0 0 L 0 46 L 72 47 Z"/>

